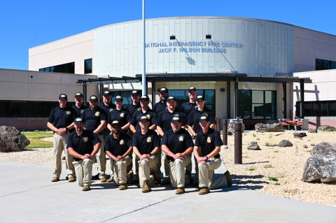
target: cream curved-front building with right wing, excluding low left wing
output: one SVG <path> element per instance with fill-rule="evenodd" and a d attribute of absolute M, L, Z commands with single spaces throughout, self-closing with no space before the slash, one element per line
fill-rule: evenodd
<path fill-rule="evenodd" d="M 111 24 L 30 48 L 29 72 L 95 75 L 98 80 L 82 76 L 78 84 L 127 98 L 132 89 L 141 89 L 141 22 Z M 336 126 L 335 69 L 336 36 L 331 34 L 241 17 L 146 20 L 152 103 L 161 87 L 182 102 L 194 86 L 222 119 L 273 123 L 301 116 L 309 119 L 309 128 Z"/>

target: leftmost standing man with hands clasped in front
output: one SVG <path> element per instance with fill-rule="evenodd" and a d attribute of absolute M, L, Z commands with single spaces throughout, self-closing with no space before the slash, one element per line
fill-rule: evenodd
<path fill-rule="evenodd" d="M 54 145 L 54 172 L 52 173 L 52 182 L 59 181 L 62 172 L 62 151 L 65 153 L 65 168 L 68 171 L 67 178 L 69 182 L 74 182 L 75 168 L 72 164 L 72 157 L 66 149 L 66 143 L 69 136 L 69 129 L 73 128 L 73 120 L 76 117 L 76 111 L 66 105 L 68 96 L 59 94 L 59 107 L 51 110 L 48 118 L 47 127 L 54 132 L 52 141 Z"/>

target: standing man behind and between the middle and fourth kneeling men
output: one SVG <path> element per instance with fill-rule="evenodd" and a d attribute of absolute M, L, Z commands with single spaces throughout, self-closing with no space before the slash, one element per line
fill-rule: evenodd
<path fill-rule="evenodd" d="M 169 96 L 166 103 L 167 103 L 167 109 L 159 113 L 157 117 L 157 122 L 156 122 L 156 125 L 157 125 L 156 128 L 158 130 L 158 134 L 160 134 L 161 137 L 164 136 L 166 131 L 169 131 L 170 129 L 172 129 L 170 122 L 172 120 L 172 117 L 174 117 L 174 115 L 178 115 L 180 117 L 180 120 L 183 123 L 182 124 L 183 126 L 186 125 L 186 115 L 177 111 L 176 109 L 177 102 L 174 96 Z M 168 162 L 168 159 L 165 153 L 162 153 L 162 163 L 165 166 L 164 168 L 165 171 L 163 173 L 163 180 L 161 182 L 161 185 L 169 185 L 170 184 L 169 162 Z M 191 182 L 191 180 L 193 179 L 193 177 L 191 176 L 191 171 L 190 171 L 189 178 L 190 178 L 190 183 L 193 183 Z"/>

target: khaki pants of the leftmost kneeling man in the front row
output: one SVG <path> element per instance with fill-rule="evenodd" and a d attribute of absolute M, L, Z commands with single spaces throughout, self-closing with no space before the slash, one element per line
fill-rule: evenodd
<path fill-rule="evenodd" d="M 92 164 L 94 164 L 94 157 L 92 159 L 82 159 L 80 161 L 73 161 L 76 169 L 76 181 L 79 187 L 90 186 L 92 178 Z"/>

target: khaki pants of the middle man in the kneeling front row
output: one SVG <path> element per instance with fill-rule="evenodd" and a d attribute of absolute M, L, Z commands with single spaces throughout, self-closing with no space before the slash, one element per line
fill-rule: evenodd
<path fill-rule="evenodd" d="M 161 157 L 160 157 L 161 158 Z M 155 185 L 154 178 L 151 178 L 151 171 L 156 172 L 156 164 L 158 164 L 158 157 L 151 156 L 148 158 L 149 161 L 144 161 L 139 159 L 139 183 L 140 187 L 144 188 L 144 181 L 150 180 L 150 185 L 153 187 Z"/>

